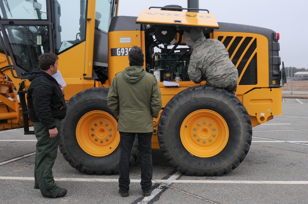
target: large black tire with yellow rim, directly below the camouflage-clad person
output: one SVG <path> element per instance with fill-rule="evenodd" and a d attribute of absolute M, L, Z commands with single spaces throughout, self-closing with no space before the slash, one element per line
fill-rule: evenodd
<path fill-rule="evenodd" d="M 221 176 L 248 153 L 251 121 L 236 96 L 212 86 L 175 95 L 164 108 L 158 141 L 169 163 L 186 175 Z"/>

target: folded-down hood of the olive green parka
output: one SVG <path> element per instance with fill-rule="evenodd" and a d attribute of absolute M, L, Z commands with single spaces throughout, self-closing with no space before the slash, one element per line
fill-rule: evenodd
<path fill-rule="evenodd" d="M 122 77 L 131 84 L 136 84 L 146 73 L 142 66 L 130 66 L 121 72 Z"/>

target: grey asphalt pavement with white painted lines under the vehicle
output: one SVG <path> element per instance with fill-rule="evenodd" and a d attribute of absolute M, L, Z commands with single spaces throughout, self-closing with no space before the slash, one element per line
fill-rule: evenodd
<path fill-rule="evenodd" d="M 153 150 L 153 192 L 140 188 L 140 158 L 130 171 L 129 196 L 118 193 L 118 175 L 85 175 L 60 151 L 53 175 L 68 190 L 63 198 L 43 198 L 34 189 L 34 135 L 23 129 L 0 132 L 0 203 L 307 203 L 308 100 L 282 99 L 282 115 L 253 128 L 244 161 L 217 177 L 187 176 L 176 171 L 161 151 Z"/>

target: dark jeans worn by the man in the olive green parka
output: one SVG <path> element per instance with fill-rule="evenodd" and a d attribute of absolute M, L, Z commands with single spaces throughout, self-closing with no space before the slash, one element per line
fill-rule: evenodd
<path fill-rule="evenodd" d="M 132 133 L 120 132 L 120 161 L 119 161 L 119 188 L 122 192 L 129 190 L 129 158 L 135 135 L 138 136 L 139 152 L 141 155 L 141 189 L 150 191 L 152 187 L 152 132 Z"/>

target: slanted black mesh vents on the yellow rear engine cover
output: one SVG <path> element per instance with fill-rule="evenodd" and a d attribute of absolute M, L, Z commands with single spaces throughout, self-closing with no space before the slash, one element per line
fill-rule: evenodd
<path fill-rule="evenodd" d="M 223 37 L 219 36 L 219 40 L 222 40 Z M 225 38 L 225 40 L 222 42 L 225 47 L 228 47 L 229 43 L 233 37 L 228 36 Z M 230 48 L 228 49 L 229 57 L 232 56 L 237 46 L 240 44 L 243 37 L 235 37 L 234 41 L 232 42 Z M 234 65 L 236 65 L 241 57 L 241 55 L 244 53 L 245 49 L 251 42 L 252 37 L 246 37 L 242 44 L 240 45 L 239 49 L 235 53 L 232 62 Z M 242 60 L 238 63 L 237 71 L 238 76 L 241 75 L 245 65 L 248 63 L 249 58 L 252 56 L 253 52 L 257 48 L 257 39 L 255 39 L 252 44 L 249 46 L 246 53 L 244 53 L 244 57 Z M 255 85 L 257 84 L 257 53 L 253 56 L 253 59 L 249 62 L 249 65 L 247 66 L 247 69 L 245 70 L 245 73 L 243 74 L 243 77 L 241 78 L 241 81 L 239 85 Z"/>

